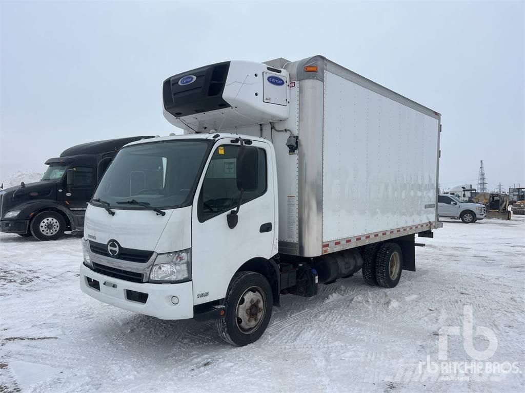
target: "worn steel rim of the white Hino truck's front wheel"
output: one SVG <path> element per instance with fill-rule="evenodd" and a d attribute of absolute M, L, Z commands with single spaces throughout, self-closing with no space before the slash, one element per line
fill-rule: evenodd
<path fill-rule="evenodd" d="M 255 332 L 266 315 L 266 297 L 257 286 L 249 287 L 239 298 L 235 321 L 244 334 Z"/>

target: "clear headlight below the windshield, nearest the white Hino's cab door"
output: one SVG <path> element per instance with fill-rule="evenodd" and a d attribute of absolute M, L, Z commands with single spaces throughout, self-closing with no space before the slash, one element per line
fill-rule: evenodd
<path fill-rule="evenodd" d="M 150 271 L 150 282 L 178 282 L 191 279 L 190 249 L 159 254 Z"/>

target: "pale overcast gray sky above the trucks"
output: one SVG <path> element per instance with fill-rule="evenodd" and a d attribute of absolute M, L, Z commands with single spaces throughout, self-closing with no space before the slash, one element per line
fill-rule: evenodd
<path fill-rule="evenodd" d="M 525 183 L 523 2 L 1 1 L 0 179 L 79 143 L 167 135 L 162 81 L 322 54 L 443 114 L 440 184 Z"/>

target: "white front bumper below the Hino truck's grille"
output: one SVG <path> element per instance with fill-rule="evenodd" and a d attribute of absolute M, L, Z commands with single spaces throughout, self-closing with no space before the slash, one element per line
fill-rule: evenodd
<path fill-rule="evenodd" d="M 100 290 L 89 286 L 88 278 L 97 280 Z M 178 284 L 130 282 L 101 275 L 81 264 L 80 289 L 103 303 L 139 314 L 151 315 L 159 319 L 193 318 L 193 286 L 191 281 Z M 128 291 L 145 293 L 148 298 L 145 303 L 130 300 L 130 292 Z M 173 296 L 178 298 L 177 304 L 173 304 Z"/>

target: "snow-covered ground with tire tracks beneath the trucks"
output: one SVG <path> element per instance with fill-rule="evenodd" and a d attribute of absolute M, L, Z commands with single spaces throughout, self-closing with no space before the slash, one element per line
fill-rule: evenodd
<path fill-rule="evenodd" d="M 445 221 L 417 239 L 417 271 L 396 288 L 366 286 L 359 273 L 314 298 L 283 296 L 266 333 L 242 348 L 219 341 L 213 323 L 161 321 L 83 294 L 79 237 L 0 240 L 0 392 L 525 388 L 525 217 Z M 447 374 L 465 362 L 466 374 Z"/>

